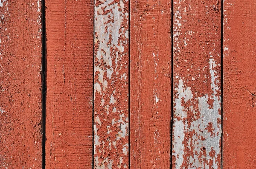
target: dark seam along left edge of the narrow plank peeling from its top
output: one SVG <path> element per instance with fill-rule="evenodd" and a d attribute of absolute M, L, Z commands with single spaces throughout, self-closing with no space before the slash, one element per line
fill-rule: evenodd
<path fill-rule="evenodd" d="M 94 59 L 94 52 L 95 52 L 95 0 L 93 0 L 93 124 L 92 124 L 92 128 L 93 128 L 93 151 L 92 151 L 92 155 L 93 155 L 93 162 L 92 162 L 92 169 L 94 169 L 94 65 L 95 65 L 95 59 Z"/>

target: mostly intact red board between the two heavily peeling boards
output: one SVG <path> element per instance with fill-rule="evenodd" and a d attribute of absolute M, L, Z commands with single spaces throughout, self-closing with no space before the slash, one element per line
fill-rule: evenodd
<path fill-rule="evenodd" d="M 131 0 L 131 169 L 169 169 L 171 1 Z"/>

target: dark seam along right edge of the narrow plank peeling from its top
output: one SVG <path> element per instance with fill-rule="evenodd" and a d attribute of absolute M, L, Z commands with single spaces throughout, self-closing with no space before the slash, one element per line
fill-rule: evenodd
<path fill-rule="evenodd" d="M 130 128 L 130 116 L 131 116 L 131 109 L 130 109 L 130 106 L 131 106 L 131 104 L 130 104 L 130 99 L 131 99 L 131 92 L 130 92 L 130 87 L 131 87 L 131 84 L 130 84 L 130 82 L 131 82 L 131 73 L 130 73 L 130 70 L 131 70 L 131 54 L 130 54 L 130 48 L 131 48 L 131 43 L 130 43 L 130 28 L 131 28 L 131 0 L 129 0 L 129 5 L 128 5 L 128 12 L 129 12 L 129 18 L 128 18 L 128 58 L 129 58 L 129 61 L 128 61 L 128 135 L 129 135 L 129 137 L 128 137 L 128 145 L 129 145 L 129 147 L 128 147 L 128 150 L 129 150 L 129 157 L 128 157 L 128 163 L 129 163 L 129 169 L 131 168 L 131 151 L 130 151 L 130 147 L 131 147 L 131 142 L 130 142 L 130 130 L 131 130 L 131 128 Z"/>

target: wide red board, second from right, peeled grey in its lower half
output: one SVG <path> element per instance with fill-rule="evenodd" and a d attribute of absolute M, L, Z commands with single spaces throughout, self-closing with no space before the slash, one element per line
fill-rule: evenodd
<path fill-rule="evenodd" d="M 172 166 L 221 168 L 221 2 L 174 0 Z"/>

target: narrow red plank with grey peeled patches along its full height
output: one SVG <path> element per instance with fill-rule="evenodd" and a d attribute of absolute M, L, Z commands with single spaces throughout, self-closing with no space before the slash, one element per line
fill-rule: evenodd
<path fill-rule="evenodd" d="M 129 168 L 128 0 L 95 0 L 94 168 Z"/>

